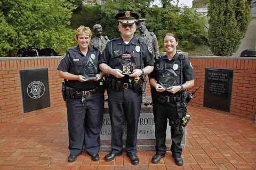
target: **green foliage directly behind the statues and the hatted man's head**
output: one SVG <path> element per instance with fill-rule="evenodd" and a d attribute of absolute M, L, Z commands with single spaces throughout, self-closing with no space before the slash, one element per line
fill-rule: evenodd
<path fill-rule="evenodd" d="M 120 36 L 117 29 L 118 21 L 115 19 L 116 13 L 130 10 L 138 12 L 140 18 L 147 19 L 147 28 L 157 36 L 160 48 L 163 48 L 163 36 L 167 32 L 178 35 L 178 47 L 181 50 L 193 49 L 195 45 L 205 43 L 205 20 L 194 10 L 184 8 L 181 11 L 179 7 L 171 4 L 172 0 L 161 1 L 164 7 L 148 7 L 150 2 L 119 0 L 116 2 L 108 1 L 104 5 L 84 6 L 81 14 L 73 15 L 71 22 L 74 23 L 76 28 L 81 24 L 90 28 L 94 24 L 101 24 L 103 35 L 112 39 Z"/>

